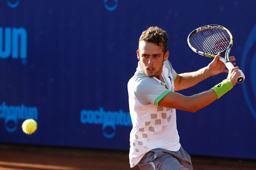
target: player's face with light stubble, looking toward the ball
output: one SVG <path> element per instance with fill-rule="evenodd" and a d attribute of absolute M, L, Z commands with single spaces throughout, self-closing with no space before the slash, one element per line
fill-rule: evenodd
<path fill-rule="evenodd" d="M 162 45 L 160 43 L 160 45 Z M 162 46 L 158 46 L 154 43 L 140 41 L 139 49 L 137 50 L 137 57 L 140 60 L 144 72 L 149 77 L 156 77 L 160 79 L 163 70 L 164 61 L 168 59 L 169 52 L 165 54 L 160 49 Z"/>

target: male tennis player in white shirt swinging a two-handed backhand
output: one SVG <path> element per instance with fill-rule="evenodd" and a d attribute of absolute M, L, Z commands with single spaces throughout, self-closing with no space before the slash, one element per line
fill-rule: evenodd
<path fill-rule="evenodd" d="M 177 74 L 168 61 L 168 35 L 159 27 L 142 32 L 137 50 L 138 67 L 128 82 L 132 118 L 130 166 L 141 170 L 192 170 L 190 155 L 179 143 L 176 109 L 195 112 L 228 92 L 240 76 L 238 67 L 228 72 L 218 54 L 208 66 L 195 72 Z M 230 57 L 230 61 L 235 61 Z M 210 90 L 184 96 L 175 91 L 228 72 Z"/>

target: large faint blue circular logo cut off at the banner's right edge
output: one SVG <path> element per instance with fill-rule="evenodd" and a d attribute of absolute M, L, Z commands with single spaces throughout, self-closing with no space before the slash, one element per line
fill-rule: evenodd
<path fill-rule="evenodd" d="M 245 81 L 242 82 L 246 104 L 256 119 L 256 25 L 244 45 L 241 69 L 246 76 Z"/>

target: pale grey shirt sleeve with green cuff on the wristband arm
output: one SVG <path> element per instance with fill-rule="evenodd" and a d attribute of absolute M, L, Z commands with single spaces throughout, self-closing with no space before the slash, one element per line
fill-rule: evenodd
<path fill-rule="evenodd" d="M 139 102 L 143 105 L 154 104 L 168 94 L 170 90 L 162 86 L 154 78 L 143 76 L 138 78 L 134 84 L 134 94 Z"/>

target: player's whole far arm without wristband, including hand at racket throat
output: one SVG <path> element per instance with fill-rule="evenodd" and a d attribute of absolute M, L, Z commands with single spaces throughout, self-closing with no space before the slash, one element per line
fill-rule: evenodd
<path fill-rule="evenodd" d="M 220 54 L 216 55 L 212 62 L 204 68 L 194 72 L 177 74 L 177 77 L 174 80 L 175 91 L 190 88 L 210 76 L 214 76 L 222 72 L 228 72 L 228 70 L 225 69 L 225 64 L 218 60 L 219 56 Z M 233 56 L 229 58 L 231 62 L 236 60 Z M 233 65 L 235 65 L 235 63 L 233 63 Z"/>

